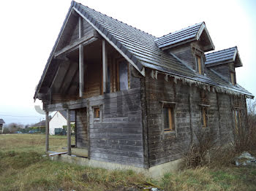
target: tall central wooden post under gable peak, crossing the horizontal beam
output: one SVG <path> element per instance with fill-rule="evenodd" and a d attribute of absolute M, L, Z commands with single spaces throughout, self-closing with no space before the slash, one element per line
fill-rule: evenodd
<path fill-rule="evenodd" d="M 79 17 L 79 39 L 83 36 L 82 19 Z M 84 82 L 83 82 L 83 44 L 79 44 L 79 96 L 83 97 Z"/>

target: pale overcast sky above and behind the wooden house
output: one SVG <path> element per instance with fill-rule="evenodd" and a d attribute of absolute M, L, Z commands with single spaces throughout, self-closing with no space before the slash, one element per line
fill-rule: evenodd
<path fill-rule="evenodd" d="M 80 0 L 88 7 L 154 36 L 206 22 L 215 50 L 237 46 L 244 66 L 237 82 L 256 95 L 256 1 Z M 1 1 L 0 118 L 37 122 L 34 90 L 71 1 Z"/>

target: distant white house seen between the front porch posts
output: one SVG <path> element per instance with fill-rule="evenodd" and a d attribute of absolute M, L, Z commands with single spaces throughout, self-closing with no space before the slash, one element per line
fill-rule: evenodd
<path fill-rule="evenodd" d="M 75 111 L 70 113 L 71 124 L 75 123 Z M 58 134 L 62 131 L 63 125 L 67 125 L 67 112 L 57 111 L 49 122 L 49 133 L 50 135 Z"/>

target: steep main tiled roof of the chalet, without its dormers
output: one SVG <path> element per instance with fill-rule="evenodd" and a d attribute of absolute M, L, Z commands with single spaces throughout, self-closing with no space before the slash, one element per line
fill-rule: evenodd
<path fill-rule="evenodd" d="M 206 75 L 197 74 L 184 63 L 181 63 L 181 61 L 179 61 L 176 57 L 160 49 L 156 43 L 157 37 L 144 31 L 140 31 L 139 29 L 129 26 L 126 23 L 122 23 L 121 21 L 113 19 L 112 17 L 108 17 L 107 15 L 97 12 L 94 9 L 72 1 L 58 39 L 56 40 L 53 50 L 50 53 L 48 63 L 45 66 L 45 70 L 39 81 L 39 85 L 37 86 L 34 99 L 37 98 L 37 94 L 39 93 L 42 82 L 45 80 L 45 76 L 50 75 L 50 72 L 52 72 L 48 70 L 48 67 L 50 66 L 51 59 L 53 58 L 53 53 L 56 49 L 56 45 L 58 44 L 61 32 L 64 30 L 65 23 L 67 23 L 68 17 L 72 10 L 77 12 L 81 17 L 83 17 L 83 19 L 90 23 L 91 26 L 93 26 L 94 29 L 98 31 L 98 33 L 106 41 L 108 41 L 108 43 L 110 43 L 121 55 L 124 56 L 124 58 L 127 59 L 127 61 L 129 61 L 129 63 L 132 64 L 132 66 L 135 66 L 135 69 L 140 71 L 140 74 L 145 74 L 145 67 L 164 72 L 165 74 L 169 74 L 173 77 L 192 80 L 195 82 L 195 84 L 202 82 L 206 83 L 207 85 L 213 85 L 216 87 L 225 88 L 225 90 L 235 91 L 236 93 L 244 93 L 252 96 L 252 94 L 248 94 L 247 91 L 240 90 L 238 87 L 235 88 L 235 86 L 231 85 L 229 82 L 219 81 L 221 82 L 219 83 L 218 81 L 211 79 L 211 76 L 207 75 L 207 72 Z M 200 23 L 200 25 L 198 24 L 198 27 L 203 29 L 198 30 L 197 28 L 198 35 L 196 35 L 196 38 L 199 38 L 203 31 L 207 31 L 204 23 Z M 198 33 L 199 31 L 200 33 Z M 195 38 L 195 36 L 193 38 Z M 193 38 L 191 40 L 194 40 Z M 51 65 L 55 66 L 54 64 Z M 211 73 L 212 71 L 208 72 Z"/>

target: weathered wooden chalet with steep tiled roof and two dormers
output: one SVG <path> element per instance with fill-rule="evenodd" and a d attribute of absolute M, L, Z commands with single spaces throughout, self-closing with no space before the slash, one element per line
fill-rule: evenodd
<path fill-rule="evenodd" d="M 67 155 L 75 111 L 76 147 L 95 166 L 167 169 L 198 131 L 227 141 L 253 95 L 236 82 L 237 47 L 211 50 L 204 22 L 157 38 L 72 1 L 34 95 L 46 113 L 46 150 L 48 112 L 61 110 Z"/>

